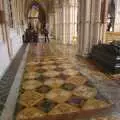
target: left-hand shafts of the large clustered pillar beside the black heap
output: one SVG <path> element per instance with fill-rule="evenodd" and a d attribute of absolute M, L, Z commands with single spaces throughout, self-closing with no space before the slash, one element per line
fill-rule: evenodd
<path fill-rule="evenodd" d="M 78 17 L 78 40 L 79 40 L 79 55 L 86 57 L 89 53 L 90 43 L 90 10 L 91 0 L 80 0 L 79 2 L 79 14 Z M 80 28 L 79 28 L 80 27 Z"/>

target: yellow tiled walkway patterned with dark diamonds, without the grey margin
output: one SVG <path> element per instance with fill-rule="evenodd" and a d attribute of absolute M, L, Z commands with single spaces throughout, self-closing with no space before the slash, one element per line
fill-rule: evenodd
<path fill-rule="evenodd" d="M 52 54 L 49 45 L 31 45 L 16 107 L 16 120 L 79 120 L 81 113 L 86 115 L 110 107 L 111 103 L 67 57 Z M 89 120 L 117 119 L 100 117 Z"/>

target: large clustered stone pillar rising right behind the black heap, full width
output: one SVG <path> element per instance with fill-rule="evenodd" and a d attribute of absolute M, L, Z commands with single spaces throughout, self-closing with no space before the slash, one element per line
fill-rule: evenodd
<path fill-rule="evenodd" d="M 78 11 L 78 54 L 88 56 L 100 40 L 101 0 L 80 0 Z"/>

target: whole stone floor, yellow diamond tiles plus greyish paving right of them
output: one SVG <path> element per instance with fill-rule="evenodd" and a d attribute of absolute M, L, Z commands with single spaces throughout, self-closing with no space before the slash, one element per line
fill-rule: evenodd
<path fill-rule="evenodd" d="M 119 108 L 107 111 L 115 101 L 119 104 L 119 86 L 86 60 L 76 58 L 75 53 L 71 46 L 31 45 L 16 120 L 120 119 L 116 118 Z M 114 92 L 118 95 L 113 96 Z M 104 110 L 108 117 L 93 116 L 103 116 Z"/>

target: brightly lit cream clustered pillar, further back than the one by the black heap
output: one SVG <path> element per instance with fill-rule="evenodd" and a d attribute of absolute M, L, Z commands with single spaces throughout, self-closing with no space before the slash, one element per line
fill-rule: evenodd
<path fill-rule="evenodd" d="M 59 1 L 59 4 L 57 3 L 56 5 L 57 7 L 55 7 L 55 21 L 56 30 L 58 29 L 56 31 L 56 38 L 59 39 L 60 43 L 72 44 L 73 36 L 77 35 L 77 31 L 75 31 L 75 28 L 77 26 L 75 25 L 75 15 L 77 19 L 77 0 L 63 0 Z M 76 13 L 74 8 L 76 9 Z"/>

